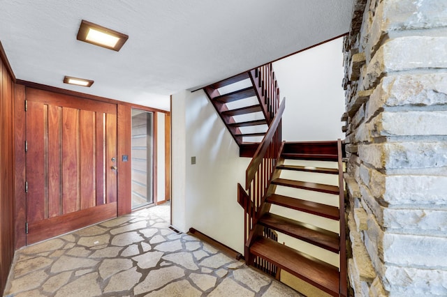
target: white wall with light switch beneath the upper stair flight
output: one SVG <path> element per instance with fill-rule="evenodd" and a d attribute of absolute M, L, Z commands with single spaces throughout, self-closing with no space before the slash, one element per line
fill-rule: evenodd
<path fill-rule="evenodd" d="M 172 119 L 174 227 L 193 227 L 243 253 L 244 211 L 237 204 L 237 183 L 244 183 L 251 159 L 239 158 L 239 147 L 203 91 L 174 95 Z M 192 156 L 196 165 L 191 165 Z"/>

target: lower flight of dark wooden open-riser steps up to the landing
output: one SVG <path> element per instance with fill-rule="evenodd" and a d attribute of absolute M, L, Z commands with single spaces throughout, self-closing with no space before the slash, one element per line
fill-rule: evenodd
<path fill-rule="evenodd" d="M 343 206 L 342 210 L 338 207 L 343 188 L 340 191 L 339 186 L 334 185 L 339 182 L 338 159 L 337 142 L 284 144 L 265 203 L 261 206 L 263 211 L 259 213 L 258 220 L 254 220 L 253 234 L 247 241 L 247 264 L 257 268 L 259 263 L 272 264 L 276 267 L 271 270 L 276 274 L 270 274 L 279 280 L 283 278 L 281 271 L 286 271 L 331 296 L 346 296 L 346 272 L 339 273 L 339 266 L 343 266 L 346 259 L 344 252 L 342 257 L 339 256 L 340 245 L 344 250 L 344 243 L 340 241 L 344 234 L 339 235 L 339 228 L 344 228 L 344 220 L 342 224 L 339 220 L 340 215 L 344 218 L 344 210 Z M 312 163 L 319 163 L 321 167 L 309 166 Z M 330 176 L 332 178 L 328 178 Z M 332 181 L 326 184 L 316 182 L 318 179 Z M 291 193 L 292 197 L 283 193 Z M 314 197 L 318 195 L 312 193 L 323 193 L 323 197 L 319 195 L 322 201 L 316 202 Z M 303 194 L 314 201 L 298 198 Z M 344 199 L 344 195 L 342 197 Z M 336 230 L 323 229 L 318 224 L 332 226 Z M 279 242 L 263 236 L 258 225 L 276 231 Z M 322 256 L 314 257 L 315 254 Z"/>

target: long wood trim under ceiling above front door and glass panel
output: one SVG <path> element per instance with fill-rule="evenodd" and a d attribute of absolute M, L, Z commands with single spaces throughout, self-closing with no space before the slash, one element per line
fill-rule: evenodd
<path fill-rule="evenodd" d="M 142 109 L 142 110 L 146 110 L 146 111 L 149 111 L 149 112 L 163 112 L 165 114 L 166 113 L 170 113 L 170 112 L 168 112 L 166 110 L 163 110 L 163 109 L 156 109 L 156 108 L 153 108 L 153 107 L 142 106 L 142 105 L 134 104 L 134 103 L 131 103 L 131 102 L 124 102 L 124 101 L 119 101 L 119 100 L 115 100 L 115 99 L 105 98 L 105 97 L 101 97 L 101 96 L 90 95 L 90 94 L 87 94 L 87 93 L 81 93 L 81 92 L 77 92 L 77 91 L 61 89 L 61 88 L 57 88 L 56 86 L 47 86 L 46 84 L 38 84 L 37 82 L 28 82 L 28 81 L 22 80 L 22 79 L 17 79 L 17 80 L 15 80 L 15 82 L 17 84 L 22 84 L 24 86 L 28 86 L 28 87 L 33 88 L 33 89 L 39 89 L 39 90 L 43 90 L 43 91 L 50 91 L 50 92 L 53 92 L 53 93 L 59 93 L 59 94 L 64 94 L 64 95 L 68 95 L 68 96 L 75 96 L 75 97 L 89 99 L 89 100 L 108 102 L 108 103 L 117 104 L 117 105 L 126 105 L 126 106 L 129 106 L 129 107 L 132 107 L 132 108 Z"/>

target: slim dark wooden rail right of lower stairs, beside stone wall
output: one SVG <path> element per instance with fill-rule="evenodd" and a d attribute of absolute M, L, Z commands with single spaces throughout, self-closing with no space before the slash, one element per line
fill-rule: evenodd
<path fill-rule="evenodd" d="M 347 268 L 346 268 L 346 217 L 344 214 L 344 178 L 343 178 L 343 150 L 342 140 L 337 139 L 338 154 L 338 184 L 339 184 L 339 218 L 340 218 L 340 296 L 347 296 Z"/>

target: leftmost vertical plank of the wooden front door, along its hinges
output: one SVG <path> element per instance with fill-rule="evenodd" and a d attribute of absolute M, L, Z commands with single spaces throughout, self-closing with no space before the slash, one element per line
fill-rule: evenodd
<path fill-rule="evenodd" d="M 44 146 L 44 105 L 41 102 L 28 102 L 27 125 L 27 221 L 37 222 L 45 219 L 45 158 Z"/>

